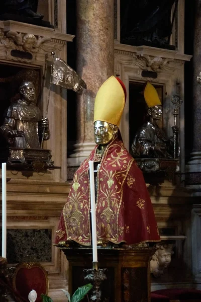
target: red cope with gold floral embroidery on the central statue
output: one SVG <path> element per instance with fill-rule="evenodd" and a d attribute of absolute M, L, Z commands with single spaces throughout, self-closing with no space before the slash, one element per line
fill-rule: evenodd
<path fill-rule="evenodd" d="M 76 171 L 61 213 L 55 243 L 72 240 L 91 245 L 89 160 Z M 115 138 L 105 149 L 97 173 L 97 241 L 128 245 L 159 241 L 151 200 L 141 170 L 123 142 Z"/>

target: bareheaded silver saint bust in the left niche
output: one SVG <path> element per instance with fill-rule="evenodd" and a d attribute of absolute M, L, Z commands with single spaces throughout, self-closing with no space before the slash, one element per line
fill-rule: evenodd
<path fill-rule="evenodd" d="M 36 105 L 36 89 L 33 82 L 23 81 L 19 87 L 20 99 L 12 103 L 6 113 L 1 133 L 11 147 L 40 148 L 40 140 L 44 131 L 44 139 L 50 138 L 49 121 L 42 118 Z"/>

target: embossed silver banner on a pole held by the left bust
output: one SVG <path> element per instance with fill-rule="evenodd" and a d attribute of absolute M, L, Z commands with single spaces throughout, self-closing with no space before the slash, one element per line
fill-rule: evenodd
<path fill-rule="evenodd" d="M 74 92 L 82 95 L 83 89 L 86 89 L 86 83 L 79 77 L 77 72 L 72 69 L 64 60 L 54 57 L 55 53 L 52 52 L 51 74 L 48 92 L 48 101 L 46 108 L 46 118 L 48 115 L 48 108 L 50 102 L 51 85 L 55 84 L 62 88 L 73 90 Z M 43 146 L 44 131 L 41 141 L 41 148 Z"/>

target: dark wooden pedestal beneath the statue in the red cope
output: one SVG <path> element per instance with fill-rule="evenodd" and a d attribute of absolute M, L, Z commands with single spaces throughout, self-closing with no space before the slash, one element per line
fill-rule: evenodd
<path fill-rule="evenodd" d="M 63 248 L 69 262 L 69 292 L 88 283 L 83 268 L 92 268 L 90 248 Z M 98 248 L 98 267 L 107 268 L 104 302 L 149 302 L 151 248 Z M 83 300 L 87 302 L 87 298 Z"/>

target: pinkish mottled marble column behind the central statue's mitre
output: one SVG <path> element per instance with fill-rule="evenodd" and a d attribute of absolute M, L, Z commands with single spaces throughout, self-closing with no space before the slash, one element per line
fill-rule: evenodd
<path fill-rule="evenodd" d="M 78 0 L 77 73 L 87 90 L 77 96 L 77 143 L 70 163 L 80 164 L 94 143 L 93 107 L 99 87 L 114 74 L 114 0 Z"/>

